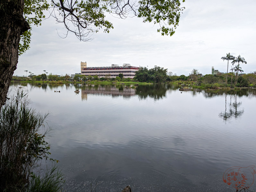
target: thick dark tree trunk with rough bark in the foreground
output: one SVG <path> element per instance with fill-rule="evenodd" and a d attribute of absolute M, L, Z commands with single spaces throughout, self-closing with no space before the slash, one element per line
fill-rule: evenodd
<path fill-rule="evenodd" d="M 24 0 L 0 0 L 0 109 L 17 68 L 20 36 L 29 29 L 23 8 Z"/>

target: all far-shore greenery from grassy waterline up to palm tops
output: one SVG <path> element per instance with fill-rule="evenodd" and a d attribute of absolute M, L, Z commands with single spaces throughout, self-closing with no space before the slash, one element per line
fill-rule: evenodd
<path fill-rule="evenodd" d="M 227 54 L 228 56 L 228 54 Z M 230 56 L 231 57 L 231 56 Z M 222 58 L 227 60 L 226 58 Z M 173 75 L 168 69 L 164 69 L 159 66 L 148 69 L 146 67 L 140 67 L 135 72 L 135 77 L 124 78 L 124 75 L 120 73 L 117 77 L 111 77 L 110 74 L 106 77 L 99 78 L 95 76 L 85 76 L 75 74 L 73 78 L 71 76 L 57 76 L 50 73 L 33 75 L 29 72 L 28 77 L 16 77 L 13 76 L 13 83 L 49 83 L 49 84 L 67 84 L 67 83 L 82 83 L 82 84 L 127 84 L 127 85 L 139 85 L 139 84 L 155 84 L 155 83 L 167 83 L 167 84 L 181 84 L 181 90 L 216 90 L 216 89 L 240 89 L 240 88 L 256 88 L 256 71 L 249 74 L 242 74 L 243 70 L 238 64 L 237 69 L 234 67 L 235 62 L 246 63 L 244 58 L 240 55 L 235 58 L 232 56 L 232 68 L 229 73 L 220 73 L 217 70 L 212 71 L 214 75 L 207 74 L 202 75 L 198 69 L 192 69 L 189 76 Z M 228 60 L 231 60 L 228 58 Z M 234 72 L 233 72 L 234 71 Z M 241 72 L 241 74 L 239 74 Z"/>

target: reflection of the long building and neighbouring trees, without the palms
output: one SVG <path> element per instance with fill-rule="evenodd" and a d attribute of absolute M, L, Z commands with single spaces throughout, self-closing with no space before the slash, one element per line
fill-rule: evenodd
<path fill-rule="evenodd" d="M 146 84 L 146 85 L 125 85 L 125 84 L 84 84 L 84 83 L 28 83 L 25 87 L 27 91 L 40 88 L 44 92 L 49 91 L 61 91 L 80 89 L 81 99 L 87 100 L 88 94 L 98 95 L 111 95 L 111 97 L 123 96 L 125 99 L 129 99 L 133 96 L 138 96 L 140 99 L 154 98 L 154 100 L 160 100 L 166 97 L 166 92 L 172 92 L 178 88 L 178 84 Z M 79 93 L 78 93 L 79 94 Z"/>

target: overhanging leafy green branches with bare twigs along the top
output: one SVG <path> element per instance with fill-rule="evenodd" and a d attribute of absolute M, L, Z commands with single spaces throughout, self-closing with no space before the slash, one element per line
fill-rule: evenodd
<path fill-rule="evenodd" d="M 15 0 L 13 0 L 15 1 Z M 80 41 L 91 40 L 91 35 L 103 29 L 109 33 L 114 28 L 106 14 L 125 19 L 129 16 L 143 18 L 143 22 L 158 24 L 158 32 L 172 36 L 175 33 L 185 0 L 24 0 L 24 18 L 32 25 L 40 26 L 49 11 L 57 22 L 63 23 Z M 28 50 L 31 28 L 21 36 L 19 54 Z"/>

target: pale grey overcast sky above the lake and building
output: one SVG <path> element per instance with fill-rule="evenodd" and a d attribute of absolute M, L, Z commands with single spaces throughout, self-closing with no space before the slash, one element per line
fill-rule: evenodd
<path fill-rule="evenodd" d="M 80 73 L 80 61 L 87 67 L 129 63 L 132 66 L 168 68 L 177 75 L 189 75 L 193 68 L 210 74 L 214 66 L 227 71 L 226 53 L 244 57 L 245 73 L 256 70 L 256 1 L 193 0 L 186 9 L 173 36 L 161 36 L 152 23 L 140 18 L 126 20 L 109 17 L 114 29 L 93 34 L 91 42 L 81 42 L 74 34 L 62 39 L 62 24 L 53 18 L 32 28 L 31 48 L 19 57 L 14 75 L 24 70 L 57 75 Z"/>

